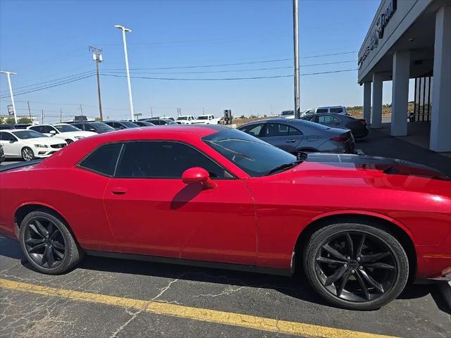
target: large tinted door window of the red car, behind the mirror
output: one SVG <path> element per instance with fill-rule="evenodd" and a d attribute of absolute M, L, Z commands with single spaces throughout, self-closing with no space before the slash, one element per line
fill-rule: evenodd
<path fill-rule="evenodd" d="M 197 149 L 163 141 L 126 142 L 115 177 L 181 178 L 183 172 L 192 167 L 204 168 L 213 178 L 230 177 Z"/>

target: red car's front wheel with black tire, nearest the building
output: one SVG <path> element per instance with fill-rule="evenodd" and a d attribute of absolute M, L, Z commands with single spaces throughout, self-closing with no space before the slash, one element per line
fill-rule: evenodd
<path fill-rule="evenodd" d="M 340 308 L 381 308 L 402 292 L 409 277 L 409 261 L 400 242 L 377 225 L 322 227 L 311 235 L 303 257 L 311 286 Z"/>

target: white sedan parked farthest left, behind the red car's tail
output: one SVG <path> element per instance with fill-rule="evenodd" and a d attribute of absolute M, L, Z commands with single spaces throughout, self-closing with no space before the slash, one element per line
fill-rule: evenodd
<path fill-rule="evenodd" d="M 35 130 L 0 130 L 0 144 L 6 158 L 23 158 L 31 161 L 48 157 L 67 145 L 63 139 L 52 139 Z"/>

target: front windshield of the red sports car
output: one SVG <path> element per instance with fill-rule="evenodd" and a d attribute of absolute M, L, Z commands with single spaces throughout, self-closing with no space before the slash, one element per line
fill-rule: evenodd
<path fill-rule="evenodd" d="M 286 151 L 236 129 L 210 134 L 202 139 L 253 177 L 264 176 L 280 165 L 294 163 L 297 159 Z"/>

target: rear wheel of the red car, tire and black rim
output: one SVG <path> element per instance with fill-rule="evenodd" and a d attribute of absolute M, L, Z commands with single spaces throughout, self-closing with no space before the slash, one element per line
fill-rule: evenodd
<path fill-rule="evenodd" d="M 19 242 L 27 261 L 40 273 L 49 275 L 66 273 L 82 258 L 82 251 L 68 227 L 58 215 L 49 211 L 32 211 L 23 218 L 20 223 Z M 37 246 L 40 247 L 35 249 Z M 53 263 L 51 259 L 47 259 L 50 256 L 53 257 Z"/>

